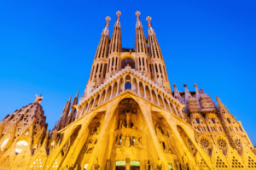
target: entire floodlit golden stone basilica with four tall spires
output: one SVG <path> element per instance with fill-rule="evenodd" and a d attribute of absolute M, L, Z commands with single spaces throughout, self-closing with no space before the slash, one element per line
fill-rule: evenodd
<path fill-rule="evenodd" d="M 122 48 L 120 12 L 108 21 L 84 94 L 67 101 L 47 132 L 36 96 L 0 122 L 0 169 L 256 169 L 256 149 L 217 97 L 171 90 L 160 44 L 136 12 L 135 49 Z"/>

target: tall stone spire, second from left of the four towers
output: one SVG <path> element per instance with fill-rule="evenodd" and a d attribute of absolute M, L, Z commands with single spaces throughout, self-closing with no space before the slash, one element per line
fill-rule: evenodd
<path fill-rule="evenodd" d="M 108 77 L 112 77 L 114 73 L 120 71 L 121 68 L 121 51 L 122 51 L 122 38 L 121 38 L 121 25 L 120 14 L 118 15 L 113 26 L 113 34 L 109 44 L 109 57 L 108 57 Z"/>

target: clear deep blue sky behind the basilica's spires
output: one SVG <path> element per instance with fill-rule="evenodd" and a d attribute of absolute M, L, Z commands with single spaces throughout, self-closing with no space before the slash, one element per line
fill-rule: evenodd
<path fill-rule="evenodd" d="M 0 1 L 0 119 L 43 93 L 54 127 L 70 94 L 84 91 L 105 17 L 112 35 L 122 12 L 123 47 L 133 48 L 139 10 L 146 35 L 152 17 L 170 83 L 218 96 L 256 144 L 255 8 L 254 0 Z"/>

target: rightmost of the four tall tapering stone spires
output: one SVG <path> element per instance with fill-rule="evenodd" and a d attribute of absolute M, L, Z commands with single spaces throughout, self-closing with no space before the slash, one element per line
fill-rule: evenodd
<path fill-rule="evenodd" d="M 148 20 L 148 48 L 149 48 L 149 57 L 150 57 L 150 71 L 151 78 L 157 83 L 160 87 L 166 88 L 169 94 L 172 94 L 170 83 L 168 80 L 166 72 L 166 64 L 163 59 L 163 55 L 160 49 L 160 45 L 155 36 L 154 29 L 150 22 L 151 17 L 147 17 Z"/>

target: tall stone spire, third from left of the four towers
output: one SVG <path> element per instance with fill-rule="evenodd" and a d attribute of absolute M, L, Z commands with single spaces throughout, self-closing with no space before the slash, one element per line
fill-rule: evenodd
<path fill-rule="evenodd" d="M 140 71 L 147 77 L 150 77 L 150 71 L 148 68 L 148 47 L 147 41 L 143 32 L 143 25 L 140 20 L 141 13 L 136 12 L 137 23 L 136 23 L 136 32 L 135 32 L 135 53 L 136 53 L 136 71 Z"/>

